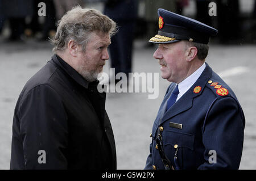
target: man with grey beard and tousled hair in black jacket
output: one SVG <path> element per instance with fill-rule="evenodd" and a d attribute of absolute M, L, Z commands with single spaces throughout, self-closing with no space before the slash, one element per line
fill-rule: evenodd
<path fill-rule="evenodd" d="M 116 169 L 105 92 L 112 19 L 75 7 L 61 18 L 55 54 L 24 86 L 13 119 L 10 169 Z"/>

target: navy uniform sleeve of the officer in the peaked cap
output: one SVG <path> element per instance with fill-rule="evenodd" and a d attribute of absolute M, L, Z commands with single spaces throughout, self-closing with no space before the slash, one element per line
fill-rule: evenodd
<path fill-rule="evenodd" d="M 236 100 L 230 97 L 217 99 L 205 118 L 203 127 L 205 162 L 198 169 L 238 169 L 242 155 L 244 127 L 243 112 Z"/>

